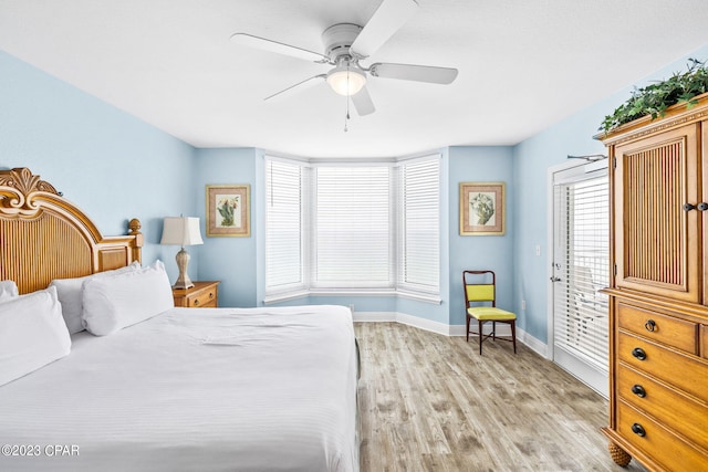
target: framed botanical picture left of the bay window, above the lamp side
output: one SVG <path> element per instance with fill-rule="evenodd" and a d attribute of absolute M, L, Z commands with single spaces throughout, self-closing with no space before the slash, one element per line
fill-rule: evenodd
<path fill-rule="evenodd" d="M 207 235 L 251 235 L 251 187 L 207 186 Z"/>

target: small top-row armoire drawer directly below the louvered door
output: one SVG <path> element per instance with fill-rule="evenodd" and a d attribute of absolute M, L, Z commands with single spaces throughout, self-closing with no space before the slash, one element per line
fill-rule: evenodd
<path fill-rule="evenodd" d="M 698 354 L 698 325 L 655 311 L 617 302 L 621 328 L 691 354 Z"/>

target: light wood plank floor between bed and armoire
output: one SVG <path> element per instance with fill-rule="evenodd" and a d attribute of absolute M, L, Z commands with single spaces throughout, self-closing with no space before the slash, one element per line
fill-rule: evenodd
<path fill-rule="evenodd" d="M 610 459 L 607 401 L 518 344 L 356 323 L 362 472 L 643 471 Z"/>

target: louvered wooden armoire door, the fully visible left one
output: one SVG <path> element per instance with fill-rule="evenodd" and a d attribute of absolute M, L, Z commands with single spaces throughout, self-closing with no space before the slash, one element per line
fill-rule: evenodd
<path fill-rule="evenodd" d="M 699 134 L 691 124 L 614 148 L 616 287 L 701 303 Z"/>

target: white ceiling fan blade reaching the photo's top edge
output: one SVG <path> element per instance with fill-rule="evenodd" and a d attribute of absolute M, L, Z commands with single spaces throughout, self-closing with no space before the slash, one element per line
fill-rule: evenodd
<path fill-rule="evenodd" d="M 381 48 L 417 11 L 414 0 L 383 0 L 350 50 L 360 59 Z"/>

